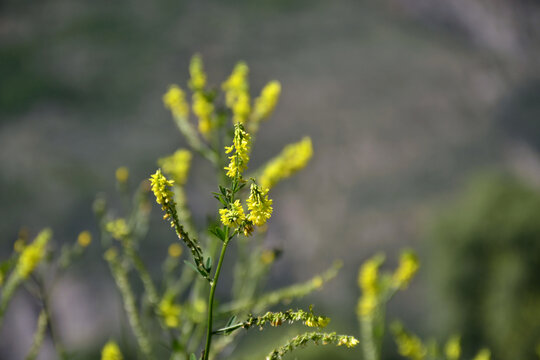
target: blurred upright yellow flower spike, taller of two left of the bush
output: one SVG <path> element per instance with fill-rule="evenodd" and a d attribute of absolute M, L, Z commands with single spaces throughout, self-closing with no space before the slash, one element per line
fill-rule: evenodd
<path fill-rule="evenodd" d="M 362 290 L 362 297 L 358 302 L 358 315 L 369 316 L 377 307 L 379 286 L 379 267 L 384 262 L 384 256 L 375 255 L 367 260 L 358 272 L 358 286 Z"/>

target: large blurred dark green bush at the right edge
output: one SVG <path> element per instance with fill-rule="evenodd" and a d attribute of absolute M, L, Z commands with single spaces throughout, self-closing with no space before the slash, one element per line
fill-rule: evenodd
<path fill-rule="evenodd" d="M 427 274 L 446 332 L 466 354 L 486 345 L 499 359 L 535 359 L 540 341 L 540 193 L 503 175 L 474 178 L 435 219 Z"/>

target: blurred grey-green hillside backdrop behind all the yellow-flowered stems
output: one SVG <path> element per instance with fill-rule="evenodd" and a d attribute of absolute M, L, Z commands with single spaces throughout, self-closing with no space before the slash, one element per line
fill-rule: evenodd
<path fill-rule="evenodd" d="M 273 189 L 267 241 L 284 255 L 269 287 L 333 259 L 317 304 L 332 330 L 357 334 L 358 266 L 418 251 L 418 278 L 390 304 L 423 338 L 461 333 L 465 353 L 533 359 L 540 344 L 540 3 L 535 0 L 234 0 L 0 2 L 0 258 L 22 227 L 55 243 L 97 233 L 92 202 L 114 199 L 114 171 L 135 186 L 186 146 L 162 94 L 184 85 L 194 53 L 220 84 L 238 60 L 251 89 L 281 82 L 261 128 L 263 164 L 304 135 L 314 157 Z M 195 220 L 215 211 L 210 166 L 195 158 Z M 114 203 L 114 200 L 111 200 Z M 145 261 L 172 241 L 154 208 Z M 69 350 L 94 354 L 122 329 L 99 246 L 56 284 Z M 224 290 L 224 289 L 222 289 Z M 24 292 L 0 333 L 0 358 L 23 358 L 38 309 Z M 238 350 L 272 337 L 254 334 Z M 272 344 L 264 345 L 265 349 Z M 262 345 L 261 345 L 262 346 Z M 385 357 L 396 358 L 392 341 Z M 264 352 L 263 352 L 264 354 Z M 251 354 L 252 355 L 252 354 Z M 91 356 L 91 355 L 89 355 Z M 320 349 L 300 358 L 356 359 Z M 54 359 L 46 343 L 40 359 Z M 82 359 L 83 357 L 81 357 Z M 91 358 L 91 357 L 90 357 Z"/>

